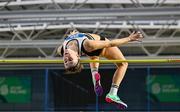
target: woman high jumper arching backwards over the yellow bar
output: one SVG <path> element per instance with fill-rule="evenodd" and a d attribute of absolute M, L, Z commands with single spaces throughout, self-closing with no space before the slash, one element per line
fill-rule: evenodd
<path fill-rule="evenodd" d="M 107 38 L 89 33 L 80 33 L 77 30 L 72 30 L 64 39 L 57 52 L 63 56 L 64 67 L 70 73 L 80 72 L 83 68 L 80 63 L 82 55 L 88 56 L 91 60 L 99 60 L 99 57 L 104 57 L 110 60 L 126 60 L 121 50 L 118 48 L 121 45 L 132 41 L 140 41 L 143 35 L 140 32 L 133 32 L 128 37 L 121 39 L 108 40 Z M 112 85 L 105 100 L 108 103 L 115 103 L 120 108 L 127 108 L 127 105 L 117 95 L 120 83 L 126 73 L 128 63 L 116 63 L 116 71 L 113 75 Z M 100 83 L 101 75 L 98 72 L 99 63 L 90 63 L 94 91 L 97 96 L 103 94 L 103 88 Z"/>

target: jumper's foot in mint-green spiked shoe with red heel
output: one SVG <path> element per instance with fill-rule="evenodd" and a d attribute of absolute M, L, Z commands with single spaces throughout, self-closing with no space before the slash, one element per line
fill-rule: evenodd
<path fill-rule="evenodd" d="M 116 104 L 117 107 L 120 109 L 126 109 L 127 108 L 127 104 L 125 104 L 123 101 L 121 101 L 117 95 L 107 94 L 106 101 L 108 103 Z"/>

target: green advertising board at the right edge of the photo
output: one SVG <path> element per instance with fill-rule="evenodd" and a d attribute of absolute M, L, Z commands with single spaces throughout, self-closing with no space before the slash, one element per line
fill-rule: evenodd
<path fill-rule="evenodd" d="M 159 102 L 180 102 L 180 75 L 150 75 L 147 88 Z"/>

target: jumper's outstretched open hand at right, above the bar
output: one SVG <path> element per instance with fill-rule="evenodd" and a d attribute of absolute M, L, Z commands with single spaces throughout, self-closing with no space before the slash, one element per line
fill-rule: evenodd
<path fill-rule="evenodd" d="M 140 31 L 133 32 L 129 35 L 129 41 L 141 41 L 144 37 Z"/>

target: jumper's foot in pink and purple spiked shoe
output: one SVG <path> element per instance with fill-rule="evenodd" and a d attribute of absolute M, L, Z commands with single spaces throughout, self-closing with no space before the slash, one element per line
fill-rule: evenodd
<path fill-rule="evenodd" d="M 97 96 L 101 96 L 103 94 L 103 88 L 100 83 L 101 76 L 99 73 L 94 74 L 95 78 L 95 85 L 94 85 L 94 91 Z"/>

